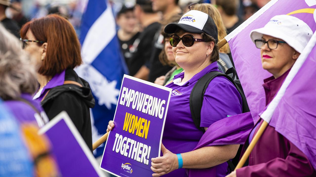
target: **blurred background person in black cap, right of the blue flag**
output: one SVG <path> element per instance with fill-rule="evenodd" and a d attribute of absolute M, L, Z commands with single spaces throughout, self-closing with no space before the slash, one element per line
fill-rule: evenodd
<path fill-rule="evenodd" d="M 116 14 L 116 24 L 120 27 L 117 34 L 121 51 L 125 62 L 130 63 L 132 46 L 139 36 L 139 28 L 137 27 L 137 20 L 133 12 L 134 7 L 126 5 L 123 5 L 122 9 Z"/>

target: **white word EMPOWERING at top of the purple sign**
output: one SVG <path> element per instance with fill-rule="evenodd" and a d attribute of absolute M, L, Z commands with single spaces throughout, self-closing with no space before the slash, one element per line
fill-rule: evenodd
<path fill-rule="evenodd" d="M 160 119 L 162 119 L 163 113 L 165 111 L 165 107 L 163 105 L 166 105 L 166 100 L 161 100 L 160 98 L 158 99 L 151 95 L 138 91 L 135 92 L 133 89 L 123 87 L 119 104 L 130 107 L 131 103 L 132 109 L 136 108 L 137 111 L 142 111 L 145 114 L 155 117 L 158 116 Z"/>

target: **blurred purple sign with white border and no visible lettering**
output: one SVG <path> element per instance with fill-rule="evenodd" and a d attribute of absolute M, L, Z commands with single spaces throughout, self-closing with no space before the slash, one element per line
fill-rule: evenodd
<path fill-rule="evenodd" d="M 105 177 L 98 163 L 65 111 L 59 113 L 39 130 L 52 143 L 58 168 L 63 177 Z"/>

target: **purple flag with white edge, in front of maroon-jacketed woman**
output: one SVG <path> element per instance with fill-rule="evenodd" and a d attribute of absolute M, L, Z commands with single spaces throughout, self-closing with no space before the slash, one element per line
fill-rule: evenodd
<path fill-rule="evenodd" d="M 304 61 L 305 60 L 305 61 Z M 302 63 L 301 67 L 299 63 Z M 296 67 L 298 64 L 298 67 Z M 283 85 L 288 86 L 275 99 L 280 101 L 274 108 L 268 106 L 267 114 L 273 113 L 269 125 L 299 148 L 316 169 L 316 34 L 310 39 L 297 59 Z M 295 75 L 295 71 L 297 71 Z M 292 73 L 294 77 L 292 77 Z M 292 79 L 293 78 L 293 79 Z M 287 85 L 287 84 L 286 84 Z M 273 101 L 275 101 L 272 100 Z M 273 104 L 271 102 L 271 105 Z M 263 114 L 266 113 L 264 111 Z M 273 112 L 274 111 L 274 112 Z M 263 116 L 263 114 L 261 116 Z M 264 116 L 269 117 L 269 116 Z M 263 117 L 264 120 L 266 120 Z M 269 121 L 269 120 L 266 120 Z"/>

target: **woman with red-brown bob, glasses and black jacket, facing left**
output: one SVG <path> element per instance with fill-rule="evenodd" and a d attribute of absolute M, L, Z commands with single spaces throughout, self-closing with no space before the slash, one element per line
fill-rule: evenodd
<path fill-rule="evenodd" d="M 40 88 L 39 100 L 49 120 L 66 111 L 92 151 L 89 108 L 94 98 L 89 84 L 73 70 L 82 64 L 80 43 L 69 21 L 52 14 L 33 19 L 21 29 L 25 51 L 32 56 Z"/>

